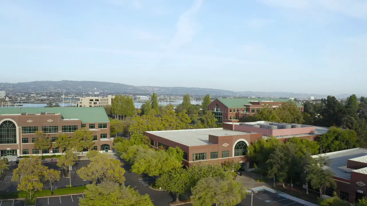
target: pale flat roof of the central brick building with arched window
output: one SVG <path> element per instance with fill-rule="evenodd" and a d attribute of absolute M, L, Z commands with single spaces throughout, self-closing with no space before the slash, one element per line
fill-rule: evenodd
<path fill-rule="evenodd" d="M 171 141 L 175 141 L 177 143 L 189 147 L 208 145 L 209 135 L 232 136 L 232 135 L 251 134 L 249 132 L 239 132 L 233 130 L 226 130 L 223 128 L 149 131 L 146 133 L 156 135 Z"/>

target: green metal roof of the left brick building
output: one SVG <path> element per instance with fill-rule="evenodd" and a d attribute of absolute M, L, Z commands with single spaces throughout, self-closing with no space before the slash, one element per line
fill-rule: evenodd
<path fill-rule="evenodd" d="M 49 112 L 61 114 L 62 119 L 80 119 L 81 122 L 109 122 L 106 110 L 103 107 L 8 107 L 0 108 L 1 114 L 21 114 Z"/>

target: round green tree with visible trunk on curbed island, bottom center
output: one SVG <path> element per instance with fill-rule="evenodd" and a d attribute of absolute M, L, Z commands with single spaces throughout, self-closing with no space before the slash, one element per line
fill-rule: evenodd
<path fill-rule="evenodd" d="M 179 202 L 179 196 L 185 194 L 189 189 L 189 173 L 183 168 L 169 170 L 157 179 L 156 185 L 164 188 L 167 192 L 172 192 L 176 196 L 176 202 Z"/>

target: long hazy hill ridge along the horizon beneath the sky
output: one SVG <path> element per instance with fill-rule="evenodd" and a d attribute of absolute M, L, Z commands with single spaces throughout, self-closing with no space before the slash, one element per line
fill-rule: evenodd
<path fill-rule="evenodd" d="M 292 93 L 292 92 L 234 92 L 224 89 L 209 89 L 196 87 L 151 87 L 151 86 L 133 86 L 112 82 L 100 81 L 33 81 L 19 83 L 0 83 L 0 91 L 4 90 L 11 93 L 26 92 L 49 92 L 66 90 L 71 93 L 88 93 L 94 88 L 103 93 L 135 93 L 151 94 L 156 92 L 160 95 L 215 95 L 215 96 L 258 96 L 258 97 L 295 97 L 295 98 L 325 98 L 327 95 Z M 338 98 L 349 96 L 343 94 Z"/>

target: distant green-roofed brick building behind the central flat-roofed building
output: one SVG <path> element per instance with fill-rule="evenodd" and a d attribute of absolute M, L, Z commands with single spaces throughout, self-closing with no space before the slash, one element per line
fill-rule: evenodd
<path fill-rule="evenodd" d="M 292 101 L 297 104 L 298 110 L 303 111 L 302 104 L 288 98 L 278 99 L 243 99 L 243 98 L 218 98 L 208 105 L 208 110 L 213 111 L 217 124 L 222 122 L 238 122 L 241 118 L 257 114 L 261 108 L 277 109 L 284 102 Z"/>

